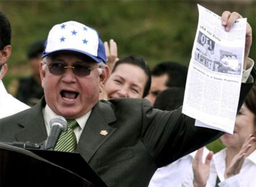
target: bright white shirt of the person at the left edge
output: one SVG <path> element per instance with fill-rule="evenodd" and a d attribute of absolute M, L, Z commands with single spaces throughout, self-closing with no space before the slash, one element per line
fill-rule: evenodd
<path fill-rule="evenodd" d="M 24 109 L 28 109 L 30 106 L 25 105 L 17 98 L 8 94 L 2 80 L 0 79 L 0 118 L 11 116 L 12 114 L 19 113 Z"/>

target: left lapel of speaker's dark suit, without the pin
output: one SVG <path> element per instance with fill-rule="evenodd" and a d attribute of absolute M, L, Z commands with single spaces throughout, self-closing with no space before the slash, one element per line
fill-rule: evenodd
<path fill-rule="evenodd" d="M 31 141 L 41 143 L 47 138 L 45 121 L 43 119 L 42 106 L 45 105 L 44 98 L 40 103 L 28 109 L 28 113 L 19 120 L 19 125 L 23 126 L 16 138 L 18 141 Z"/>

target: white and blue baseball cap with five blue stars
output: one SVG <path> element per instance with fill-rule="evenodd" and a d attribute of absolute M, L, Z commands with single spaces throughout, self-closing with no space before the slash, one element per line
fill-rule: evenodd
<path fill-rule="evenodd" d="M 60 23 L 49 31 L 42 58 L 61 51 L 79 52 L 106 63 L 105 47 L 97 31 L 79 22 Z"/>

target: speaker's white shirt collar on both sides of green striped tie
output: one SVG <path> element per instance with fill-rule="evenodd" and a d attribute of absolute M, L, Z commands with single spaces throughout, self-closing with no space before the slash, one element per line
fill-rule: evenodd
<path fill-rule="evenodd" d="M 84 114 L 83 116 L 75 119 L 77 123 L 79 124 L 79 127 L 75 127 L 74 133 L 75 137 L 77 138 L 77 142 L 79 142 L 79 138 L 83 132 L 83 128 L 85 127 L 85 124 L 92 113 L 92 109 L 88 111 L 88 113 Z M 53 119 L 53 117 L 57 116 L 51 108 L 46 104 L 45 108 L 43 108 L 43 118 L 45 119 L 45 127 L 46 127 L 46 132 L 47 135 L 49 136 L 49 132 L 51 130 L 51 127 L 49 125 L 49 121 Z"/>

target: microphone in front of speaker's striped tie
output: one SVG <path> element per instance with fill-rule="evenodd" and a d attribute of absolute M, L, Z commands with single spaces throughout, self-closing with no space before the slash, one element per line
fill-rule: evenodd
<path fill-rule="evenodd" d="M 45 149 L 54 150 L 59 139 L 59 135 L 61 135 L 61 132 L 65 132 L 67 130 L 67 121 L 62 116 L 55 116 L 50 120 L 49 125 L 51 130 L 49 137 L 45 141 Z"/>

